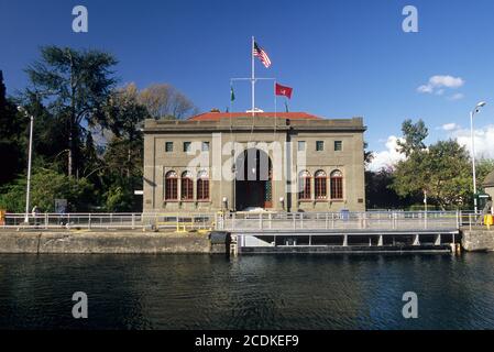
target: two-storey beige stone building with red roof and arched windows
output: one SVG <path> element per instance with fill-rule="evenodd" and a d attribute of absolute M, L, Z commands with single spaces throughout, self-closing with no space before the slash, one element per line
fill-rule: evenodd
<path fill-rule="evenodd" d="M 305 112 L 146 120 L 144 211 L 364 210 L 365 129 Z"/>

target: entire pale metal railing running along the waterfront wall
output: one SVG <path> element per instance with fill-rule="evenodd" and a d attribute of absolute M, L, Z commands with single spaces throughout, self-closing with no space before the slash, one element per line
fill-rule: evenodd
<path fill-rule="evenodd" d="M 135 230 L 458 230 L 483 226 L 473 211 L 7 213 L 0 229 Z"/>

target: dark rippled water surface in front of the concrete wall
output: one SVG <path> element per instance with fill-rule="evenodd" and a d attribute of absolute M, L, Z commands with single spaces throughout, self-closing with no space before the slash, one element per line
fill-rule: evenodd
<path fill-rule="evenodd" d="M 494 329 L 493 279 L 494 254 L 0 255 L 0 328 Z"/>

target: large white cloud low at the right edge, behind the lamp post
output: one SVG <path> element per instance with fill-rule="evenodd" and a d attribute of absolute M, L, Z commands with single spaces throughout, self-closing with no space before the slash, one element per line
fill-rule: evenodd
<path fill-rule="evenodd" d="M 450 138 L 458 141 L 460 145 L 464 145 L 466 150 L 472 152 L 472 138 L 470 129 L 460 129 L 452 131 Z M 474 131 L 475 156 L 494 158 L 494 125 L 490 124 Z"/>

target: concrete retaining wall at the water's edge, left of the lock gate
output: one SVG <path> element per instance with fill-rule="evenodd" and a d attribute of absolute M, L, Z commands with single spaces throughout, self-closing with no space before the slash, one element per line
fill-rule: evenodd
<path fill-rule="evenodd" d="M 0 253 L 211 253 L 207 235 L 144 232 L 0 232 Z M 224 252 L 223 252 L 224 253 Z"/>

